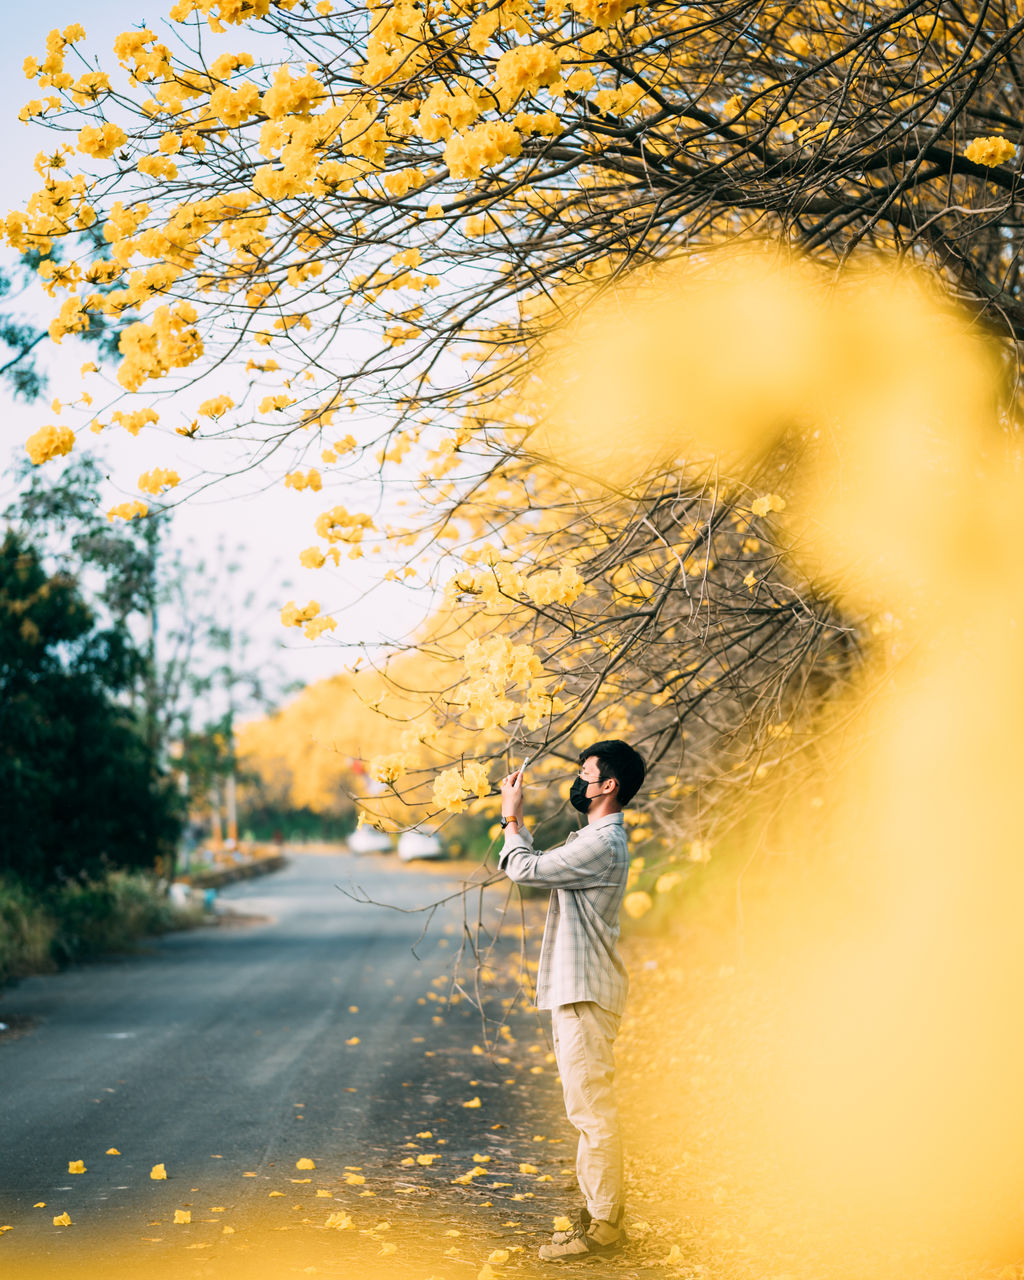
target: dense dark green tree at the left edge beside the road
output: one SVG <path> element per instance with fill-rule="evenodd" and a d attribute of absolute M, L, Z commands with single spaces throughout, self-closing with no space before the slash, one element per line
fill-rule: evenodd
<path fill-rule="evenodd" d="M 9 529 L 0 544 L 0 870 L 45 884 L 173 858 L 179 801 L 124 700 L 131 636 Z"/>

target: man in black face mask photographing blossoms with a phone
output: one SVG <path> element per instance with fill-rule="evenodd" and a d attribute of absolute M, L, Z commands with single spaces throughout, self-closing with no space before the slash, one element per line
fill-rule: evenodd
<path fill-rule="evenodd" d="M 644 782 L 643 756 L 627 742 L 580 753 L 570 800 L 586 826 L 564 845 L 536 852 L 522 822 L 522 771 L 502 781 L 504 847 L 499 865 L 517 884 L 552 890 L 540 947 L 536 1002 L 552 1011 L 552 1038 L 566 1114 L 579 1130 L 576 1178 L 585 1206 L 572 1226 L 540 1248 L 545 1262 L 622 1247 L 622 1139 L 612 1046 L 628 977 L 618 955 L 618 910 L 630 855 L 622 809 Z"/>

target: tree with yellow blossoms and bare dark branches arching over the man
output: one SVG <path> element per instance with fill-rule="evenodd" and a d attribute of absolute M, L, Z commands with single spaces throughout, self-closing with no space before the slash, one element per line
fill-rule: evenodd
<path fill-rule="evenodd" d="M 26 61 L 22 118 L 54 145 L 5 238 L 45 252 L 102 227 L 108 255 L 50 280 L 54 342 L 137 316 L 88 426 L 145 431 L 140 489 L 163 500 L 191 479 L 161 430 L 196 476 L 207 438 L 234 439 L 239 468 L 323 492 L 305 566 L 387 548 L 381 575 L 447 582 L 424 714 L 497 735 L 484 758 L 511 735 L 564 774 L 586 735 L 630 736 L 666 815 L 680 787 L 754 780 L 855 652 L 827 594 L 780 568 L 785 457 L 744 485 L 707 456 L 552 458 L 532 361 L 594 292 L 751 233 L 837 266 L 899 252 L 1023 338 L 1021 95 L 998 73 L 1016 10 L 178 0 L 170 18 L 177 38 L 124 32 L 102 65 L 78 24 Z M 742 361 L 756 315 L 722 321 Z M 29 442 L 40 462 L 72 447 L 67 424 Z M 317 637 L 333 612 L 292 600 L 282 621 Z M 460 765 L 435 801 L 485 781 Z"/>

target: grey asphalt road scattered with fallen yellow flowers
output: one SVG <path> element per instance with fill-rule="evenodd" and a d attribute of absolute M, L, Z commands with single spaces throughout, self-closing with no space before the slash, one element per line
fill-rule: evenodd
<path fill-rule="evenodd" d="M 223 893 L 256 922 L 4 993 L 0 1020 L 28 1027 L 0 1037 L 5 1280 L 225 1276 L 234 1263 L 274 1276 L 404 1263 L 425 1277 L 438 1258 L 468 1274 L 509 1240 L 508 1265 L 532 1254 L 566 1207 L 572 1144 L 536 1015 L 513 1011 L 492 1051 L 480 1011 L 448 1002 L 479 895 L 421 937 L 422 914 L 353 902 L 335 888 L 351 881 L 402 908 L 460 887 L 439 867 L 300 854 Z M 492 925 L 503 900 L 485 895 Z M 472 968 L 463 957 L 458 972 Z M 497 1020 L 515 982 L 492 992 Z M 156 1165 L 166 1180 L 150 1178 Z M 52 1224 L 60 1213 L 70 1226 Z"/>

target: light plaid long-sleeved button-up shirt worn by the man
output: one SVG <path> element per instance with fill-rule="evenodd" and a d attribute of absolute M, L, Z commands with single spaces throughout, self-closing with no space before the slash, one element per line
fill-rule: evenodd
<path fill-rule="evenodd" d="M 506 833 L 498 865 L 517 884 L 552 890 L 536 975 L 539 1009 L 593 1000 L 622 1014 L 630 979 L 618 955 L 618 911 L 630 854 L 621 813 L 573 831 L 564 845 L 534 850 L 529 831 Z"/>

